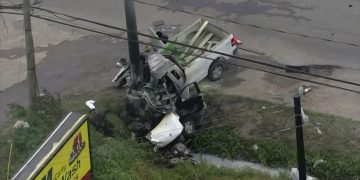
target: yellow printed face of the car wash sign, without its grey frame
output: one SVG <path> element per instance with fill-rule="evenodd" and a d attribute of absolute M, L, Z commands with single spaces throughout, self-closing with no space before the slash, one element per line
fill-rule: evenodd
<path fill-rule="evenodd" d="M 65 142 L 36 175 L 35 180 L 91 179 L 88 121 Z"/>

